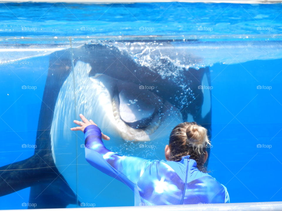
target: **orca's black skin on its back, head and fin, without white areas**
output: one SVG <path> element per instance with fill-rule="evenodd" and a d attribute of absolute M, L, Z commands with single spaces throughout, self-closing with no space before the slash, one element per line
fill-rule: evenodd
<path fill-rule="evenodd" d="M 187 114 L 191 113 L 194 120 L 206 127 L 209 136 L 211 135 L 211 111 L 204 119 L 201 117 L 203 95 L 202 90 L 198 89 L 204 73 L 207 74 L 210 85 L 208 67 L 199 70 L 183 69 L 179 79 L 172 80 L 169 77 L 162 79 L 155 69 L 141 66 L 127 54 L 107 45 L 87 44 L 72 50 L 54 52 L 50 55 L 48 76 L 41 103 L 36 135 L 37 148 L 30 158 L 0 167 L 0 196 L 31 187 L 29 203 L 36 203 L 37 206 L 34 208 L 64 208 L 69 204 L 79 204 L 77 196 L 55 166 L 50 137 L 56 100 L 63 82 L 72 70 L 72 59 L 73 66 L 78 61 L 89 63 L 92 67 L 89 76 L 101 73 L 138 86 L 155 86 L 156 89 L 152 92 L 178 108 L 182 113 L 183 121 L 186 121 Z M 162 63 L 162 68 L 176 68 L 167 60 L 163 60 Z M 179 84 L 186 81 L 193 81 L 189 87 L 193 90 L 194 96 L 197 96 L 194 100 L 189 95 L 175 98 L 175 96 L 181 96 L 180 93 L 183 92 Z M 191 101 L 191 103 L 187 106 L 181 103 L 182 100 Z"/>

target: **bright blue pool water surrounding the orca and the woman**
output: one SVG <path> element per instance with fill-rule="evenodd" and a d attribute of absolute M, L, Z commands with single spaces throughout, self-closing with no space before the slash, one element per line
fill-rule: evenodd
<path fill-rule="evenodd" d="M 177 63 L 179 67 L 209 67 L 213 86 L 210 174 L 227 187 L 232 203 L 281 201 L 282 56 L 281 39 L 274 36 L 282 30 L 281 9 L 281 4 L 10 3 L 0 4 L 0 36 L 38 38 L 39 41 L 28 40 L 17 45 L 19 48 L 36 48 L 36 45 L 28 43 L 38 44 L 43 37 L 55 36 L 197 35 L 197 41 L 172 44 L 180 49 L 176 57 L 174 47 L 169 47 L 163 56 L 174 56 L 172 61 L 180 61 L 180 64 Z M 140 30 L 140 27 L 143 28 Z M 236 42 L 218 38 L 211 41 L 210 38 L 209 42 L 204 42 L 200 38 L 201 35 L 239 34 L 253 38 L 263 35 L 266 41 L 253 42 L 249 38 L 238 38 Z M 267 42 L 268 38 L 273 42 Z M 1 49 L 5 45 L 12 48 L 13 42 L 9 40 L 5 43 L 5 38 L 1 39 Z M 136 45 L 153 48 L 146 41 Z M 22 148 L 22 144 L 35 144 L 41 99 L 50 65 L 50 56 L 42 54 L 44 47 L 28 58 L 26 52 L 1 52 L 0 166 L 24 160 L 34 153 L 33 149 Z M 192 58 L 197 59 L 186 61 L 187 52 L 192 52 Z M 155 58 L 159 61 L 161 57 Z M 150 64 L 145 60 L 144 65 Z M 37 89 L 23 90 L 23 85 L 36 86 Z M 257 86 L 271 88 L 257 89 Z M 80 138 L 83 135 L 80 134 Z M 116 141 L 113 145 L 119 143 Z M 167 140 L 156 143 L 155 151 L 144 156 L 164 159 L 163 146 L 166 143 Z M 269 148 L 264 147 L 266 145 Z M 124 149 L 123 152 L 144 154 L 137 147 Z M 79 171 L 86 174 L 88 168 L 90 166 L 81 165 Z M 133 193 L 125 185 L 112 182 L 112 178 L 103 173 L 97 172 L 96 176 L 99 182 L 95 184 L 97 189 L 93 190 L 93 203 L 97 207 L 134 204 Z M 108 183 L 110 185 L 105 186 Z M 87 190 L 87 186 L 81 187 L 78 193 Z M 27 208 L 22 203 L 28 202 L 29 193 L 30 188 L 25 188 L 0 197 L 0 209 Z"/>

